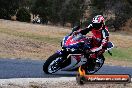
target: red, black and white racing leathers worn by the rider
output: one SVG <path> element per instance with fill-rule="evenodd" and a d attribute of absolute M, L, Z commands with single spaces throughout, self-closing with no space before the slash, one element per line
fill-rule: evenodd
<path fill-rule="evenodd" d="M 109 41 L 109 31 L 105 25 L 103 25 L 100 29 L 96 29 L 92 26 L 92 24 L 90 24 L 88 27 L 80 30 L 79 32 L 83 35 L 86 35 L 89 31 L 92 32 L 92 48 L 90 51 L 94 53 L 91 54 L 91 58 L 97 58 L 97 56 L 104 53 L 107 48 L 107 43 Z"/>

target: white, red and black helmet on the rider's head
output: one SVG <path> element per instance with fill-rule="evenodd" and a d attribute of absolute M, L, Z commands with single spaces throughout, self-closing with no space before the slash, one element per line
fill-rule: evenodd
<path fill-rule="evenodd" d="M 102 15 L 97 15 L 93 18 L 92 20 L 92 24 L 93 24 L 93 27 L 95 29 L 100 29 L 103 27 L 103 25 L 105 25 L 104 23 L 104 17 Z"/>

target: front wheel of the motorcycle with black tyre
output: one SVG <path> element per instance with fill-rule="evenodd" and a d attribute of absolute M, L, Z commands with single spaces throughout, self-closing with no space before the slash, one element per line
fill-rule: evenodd
<path fill-rule="evenodd" d="M 60 69 L 60 60 L 61 59 L 62 59 L 62 57 L 58 53 L 53 54 L 44 63 L 43 71 L 46 74 L 52 74 L 52 73 L 57 72 Z"/>

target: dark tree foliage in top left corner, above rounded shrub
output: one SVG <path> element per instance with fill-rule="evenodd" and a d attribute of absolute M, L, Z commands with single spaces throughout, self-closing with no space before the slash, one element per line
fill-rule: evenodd
<path fill-rule="evenodd" d="M 0 18 L 10 19 L 19 8 L 29 8 L 31 0 L 0 0 Z"/>

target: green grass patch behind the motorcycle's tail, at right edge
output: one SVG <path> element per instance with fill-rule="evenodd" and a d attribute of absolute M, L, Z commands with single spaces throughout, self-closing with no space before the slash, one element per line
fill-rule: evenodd
<path fill-rule="evenodd" d="M 132 61 L 132 48 L 113 48 L 111 52 L 112 56 L 105 53 L 105 57 L 115 60 Z"/>

